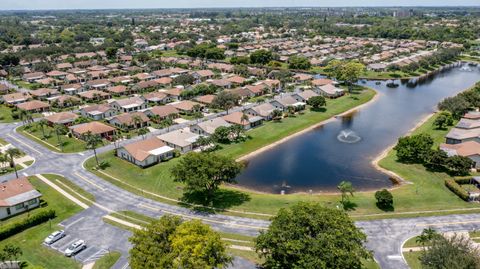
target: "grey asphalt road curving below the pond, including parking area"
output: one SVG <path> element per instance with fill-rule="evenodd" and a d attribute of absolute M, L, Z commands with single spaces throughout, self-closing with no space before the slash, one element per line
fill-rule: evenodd
<path fill-rule="evenodd" d="M 83 161 L 92 156 L 90 151 L 75 154 L 51 152 L 16 133 L 15 128 L 18 126 L 19 124 L 1 124 L 0 136 L 35 158 L 35 163 L 21 170 L 19 174 L 61 174 L 95 196 L 97 205 L 63 222 L 65 230 L 72 237 L 72 240 L 81 238 L 89 244 L 91 249 L 89 251 L 85 250 L 82 255 L 78 255 L 78 259 L 83 262 L 97 259 L 108 251 L 117 250 L 122 253 L 122 257 L 114 268 L 128 268 L 128 249 L 130 248 L 128 237 L 130 232 L 102 221 L 102 217 L 111 211 L 131 210 L 152 217 L 175 214 L 186 219 L 201 219 L 219 231 L 250 236 L 255 236 L 259 230 L 268 227 L 269 222 L 264 220 L 199 213 L 130 193 L 102 180 L 83 168 Z M 99 151 L 106 151 L 111 147 L 111 145 L 103 147 Z M 0 181 L 9 180 L 13 177 L 13 174 L 9 174 L 0 177 Z M 367 247 L 374 252 L 375 259 L 382 268 L 401 269 L 408 268 L 401 255 L 401 245 L 405 240 L 420 234 L 427 227 L 433 227 L 442 232 L 478 230 L 480 229 L 480 214 L 362 221 L 357 222 L 356 225 L 367 234 Z M 238 258 L 231 268 L 255 267 L 250 262 Z"/>

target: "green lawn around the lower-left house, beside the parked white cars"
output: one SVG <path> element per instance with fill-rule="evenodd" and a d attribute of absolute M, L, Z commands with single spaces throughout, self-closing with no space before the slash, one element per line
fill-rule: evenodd
<path fill-rule="evenodd" d="M 81 264 L 75 260 L 66 258 L 61 253 L 41 245 L 45 237 L 53 231 L 61 229 L 58 223 L 80 212 L 81 208 L 38 178 L 30 177 L 30 182 L 43 194 L 42 199 L 48 204 L 46 209 L 55 210 L 57 217 L 51 223 L 43 223 L 1 241 L 0 248 L 6 244 L 18 245 L 23 251 L 19 260 L 27 262 L 30 266 L 41 266 L 48 269 L 81 268 Z M 24 214 L 15 218 L 25 216 Z"/>

